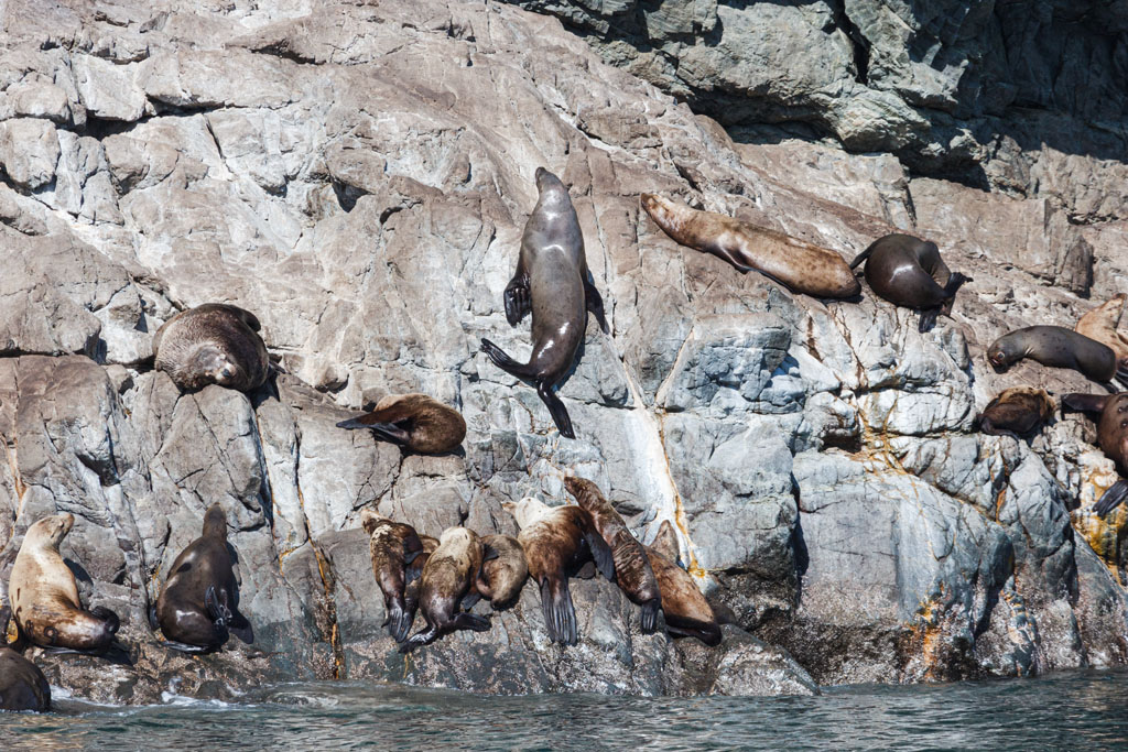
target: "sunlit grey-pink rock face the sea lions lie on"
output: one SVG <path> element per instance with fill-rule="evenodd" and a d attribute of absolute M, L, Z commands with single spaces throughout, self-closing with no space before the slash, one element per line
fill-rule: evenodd
<path fill-rule="evenodd" d="M 704 25 L 730 10 L 698 5 L 715 34 Z M 1059 417 L 1029 443 L 971 431 L 1005 387 L 1095 389 L 1030 363 L 996 374 L 982 352 L 1123 290 L 1122 221 L 913 178 L 889 154 L 734 143 L 558 20 L 505 5 L 3 14 L 0 580 L 34 520 L 74 513 L 63 554 L 85 602 L 122 614 L 133 660 L 36 654 L 55 685 L 120 702 L 309 678 L 776 693 L 1128 660 L 1128 511 L 1086 511 L 1112 472 L 1092 425 Z M 575 441 L 477 352 L 483 335 L 528 352 L 501 293 L 538 166 L 571 187 L 611 322 L 588 327 L 561 389 Z M 847 259 L 914 232 L 975 281 L 919 334 L 867 290 L 821 302 L 678 247 L 644 191 Z M 160 324 L 208 301 L 254 311 L 287 373 L 245 396 L 180 395 L 152 371 Z M 462 453 L 404 455 L 334 426 L 406 391 L 459 407 Z M 513 533 L 501 503 L 563 502 L 570 472 L 644 540 L 676 523 L 703 589 L 737 613 L 724 646 L 641 635 L 637 609 L 592 580 L 573 589 L 574 648 L 547 643 L 528 586 L 490 632 L 395 653 L 360 510 L 429 534 Z M 144 613 L 215 501 L 256 643 L 190 660 L 156 645 Z"/>

